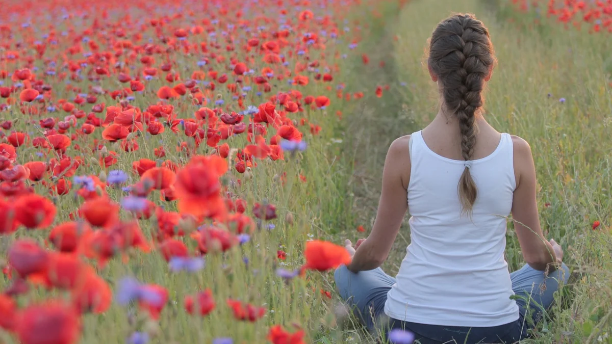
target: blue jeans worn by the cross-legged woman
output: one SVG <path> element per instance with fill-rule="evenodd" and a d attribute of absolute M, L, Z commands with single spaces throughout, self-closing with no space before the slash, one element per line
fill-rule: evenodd
<path fill-rule="evenodd" d="M 542 310 L 553 304 L 554 292 L 559 290 L 561 282 L 567 283 L 568 278 L 569 268 L 565 264 L 548 276 L 525 265 L 510 274 L 512 290 L 518 297 L 515 299 L 519 308 L 517 321 L 495 327 L 462 327 L 417 324 L 389 318 L 384 313 L 384 304 L 395 279 L 380 267 L 354 274 L 346 266 L 341 266 L 334 274 L 340 297 L 353 308 L 361 323 L 370 331 L 378 329 L 386 333 L 390 329 L 406 329 L 415 334 L 420 344 L 518 342 L 528 337 L 528 329 L 542 318 Z M 381 324 L 385 324 L 384 329 L 379 328 Z"/>

